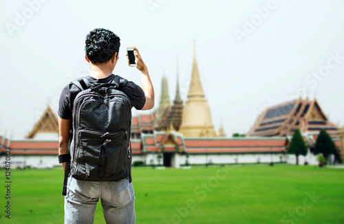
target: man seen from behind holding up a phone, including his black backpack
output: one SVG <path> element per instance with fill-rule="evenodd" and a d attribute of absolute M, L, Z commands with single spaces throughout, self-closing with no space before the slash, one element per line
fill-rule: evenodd
<path fill-rule="evenodd" d="M 129 180 L 130 174 L 125 173 L 126 164 L 119 163 L 124 159 L 129 166 L 127 170 L 130 170 L 131 163 L 127 158 L 130 155 L 131 107 L 153 108 L 154 91 L 148 69 L 136 48 L 134 54 L 142 73 L 143 89 L 133 82 L 127 82 L 121 91 L 108 91 L 111 87 L 97 88 L 109 86 L 105 83 L 112 83 L 116 77 L 112 71 L 118 60 L 119 41 L 118 36 L 109 30 L 90 32 L 85 41 L 85 58 L 91 65 L 87 81 L 94 91 L 80 92 L 75 83 L 70 83 L 61 93 L 58 154 L 67 171 L 65 158 L 69 155 L 71 129 L 74 138 L 70 144 L 72 175 L 67 181 L 65 223 L 93 223 L 99 199 L 107 223 L 135 223 L 133 184 Z M 127 107 L 127 112 L 122 107 Z M 118 117 L 118 114 L 126 114 L 127 119 Z M 126 120 L 125 124 L 122 120 Z M 92 159 L 87 161 L 89 158 Z"/>

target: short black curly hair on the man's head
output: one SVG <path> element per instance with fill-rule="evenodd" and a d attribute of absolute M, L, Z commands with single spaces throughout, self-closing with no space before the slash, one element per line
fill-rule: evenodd
<path fill-rule="evenodd" d="M 110 30 L 96 28 L 89 32 L 85 41 L 85 52 L 92 63 L 107 63 L 120 51 L 120 38 Z"/>

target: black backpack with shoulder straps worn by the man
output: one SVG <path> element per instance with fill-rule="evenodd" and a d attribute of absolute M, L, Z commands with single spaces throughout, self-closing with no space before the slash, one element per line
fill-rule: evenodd
<path fill-rule="evenodd" d="M 67 176 L 85 181 L 131 182 L 131 103 L 122 88 L 127 80 L 90 85 L 87 78 L 72 81 L 80 92 L 74 100 L 70 165 Z M 68 167 L 67 167 L 68 166 Z"/>

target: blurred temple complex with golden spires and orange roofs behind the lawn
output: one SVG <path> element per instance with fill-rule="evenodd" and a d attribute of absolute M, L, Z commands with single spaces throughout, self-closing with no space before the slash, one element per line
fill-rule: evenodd
<path fill-rule="evenodd" d="M 191 84 L 185 105 L 177 85 L 173 104 L 169 98 L 168 80 L 162 78 L 160 104 L 151 114 L 133 116 L 131 149 L 133 163 L 166 167 L 208 164 L 290 163 L 294 156 L 286 153 L 290 137 L 299 128 L 308 148 L 314 147 L 321 128 L 325 129 L 344 159 L 344 128 L 338 129 L 328 120 L 319 102 L 299 98 L 266 109 L 253 124 L 248 137 L 226 137 L 221 126 L 215 132 L 211 110 L 205 98 L 197 67 L 195 47 Z M 11 148 L 11 161 L 25 166 L 39 163 L 58 164 L 58 120 L 48 105 L 25 139 L 13 140 L 0 135 L 0 163 L 5 161 L 5 148 Z M 300 163 L 317 164 L 316 156 L 308 153 Z M 24 166 L 24 167 L 25 167 Z"/>

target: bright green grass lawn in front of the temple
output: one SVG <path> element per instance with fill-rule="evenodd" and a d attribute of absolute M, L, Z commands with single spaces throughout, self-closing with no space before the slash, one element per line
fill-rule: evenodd
<path fill-rule="evenodd" d="M 5 171 L 3 172 L 3 186 Z M 0 223 L 63 223 L 63 172 L 11 171 Z M 136 223 L 344 223 L 344 170 L 316 166 L 133 168 Z M 189 209 L 187 209 L 189 208 Z M 98 203 L 94 223 L 105 223 Z"/>

